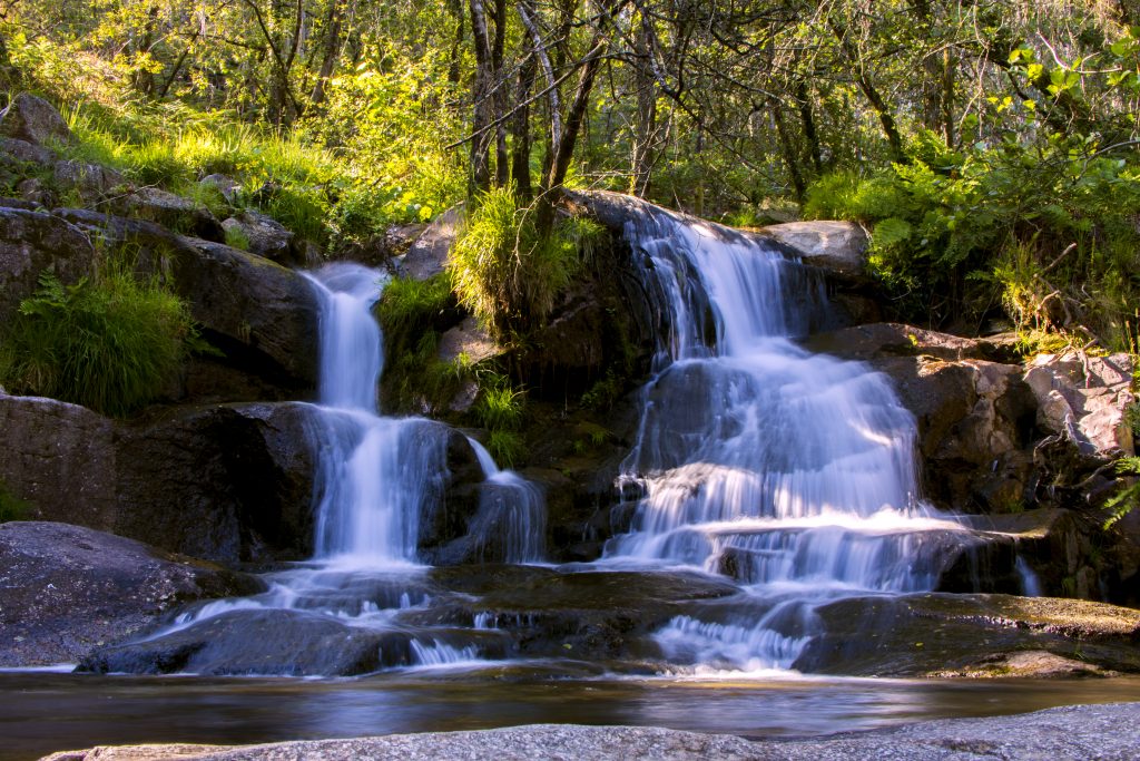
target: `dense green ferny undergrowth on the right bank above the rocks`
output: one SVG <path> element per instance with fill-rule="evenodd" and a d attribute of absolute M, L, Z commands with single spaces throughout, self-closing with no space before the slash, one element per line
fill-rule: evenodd
<path fill-rule="evenodd" d="M 1058 137 L 954 152 L 925 135 L 909 163 L 821 178 L 804 213 L 871 228 L 871 274 L 903 319 L 971 332 L 1004 313 L 1021 332 L 1127 350 L 1140 171 L 1096 147 Z"/>

